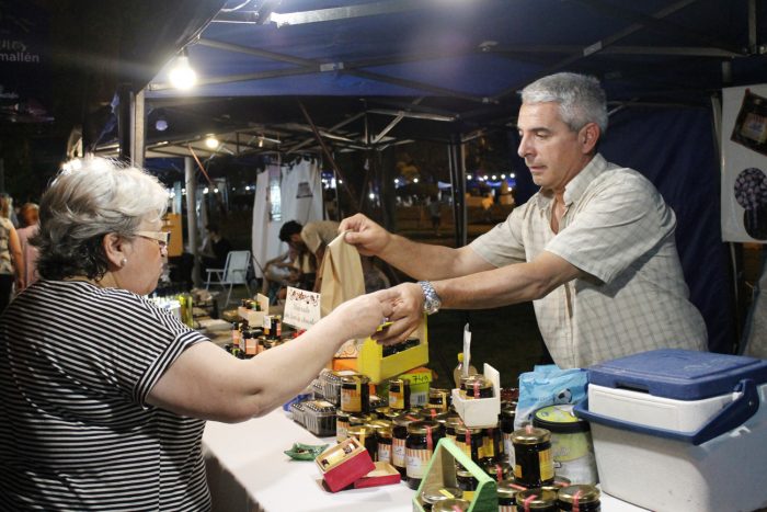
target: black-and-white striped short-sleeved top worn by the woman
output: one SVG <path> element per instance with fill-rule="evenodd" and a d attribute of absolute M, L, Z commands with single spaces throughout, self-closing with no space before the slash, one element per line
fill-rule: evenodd
<path fill-rule="evenodd" d="M 209 510 L 205 422 L 146 402 L 203 341 L 130 292 L 27 288 L 0 318 L 0 510 Z"/>

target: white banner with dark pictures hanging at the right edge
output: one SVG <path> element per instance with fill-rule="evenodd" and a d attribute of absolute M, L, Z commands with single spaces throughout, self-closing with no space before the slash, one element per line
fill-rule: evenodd
<path fill-rule="evenodd" d="M 767 84 L 722 90 L 722 239 L 767 241 Z"/>

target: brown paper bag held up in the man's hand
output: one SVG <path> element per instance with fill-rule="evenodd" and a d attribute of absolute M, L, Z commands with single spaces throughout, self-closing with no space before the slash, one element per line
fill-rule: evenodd
<path fill-rule="evenodd" d="M 365 293 L 365 278 L 359 253 L 354 246 L 344 241 L 343 234 L 328 244 L 322 260 L 320 275 L 320 310 L 325 317 L 341 303 Z M 344 343 L 336 357 L 356 357 L 357 345 L 354 340 Z"/>

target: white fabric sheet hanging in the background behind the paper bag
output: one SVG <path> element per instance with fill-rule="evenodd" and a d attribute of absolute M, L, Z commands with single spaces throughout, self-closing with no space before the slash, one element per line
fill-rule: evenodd
<path fill-rule="evenodd" d="M 266 262 L 287 251 L 279 241 L 283 223 L 296 220 L 307 224 L 322 220 L 322 182 L 317 162 L 301 160 L 295 166 L 271 164 L 259 174 L 253 203 L 252 252 L 256 277 L 263 276 Z M 279 178 L 277 178 L 279 177 Z M 274 179 L 279 183 L 281 216 L 270 218 L 270 187 Z"/>

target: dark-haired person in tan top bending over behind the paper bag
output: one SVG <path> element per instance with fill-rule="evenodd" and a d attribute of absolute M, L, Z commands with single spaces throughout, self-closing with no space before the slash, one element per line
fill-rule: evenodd
<path fill-rule="evenodd" d="M 306 226 L 289 220 L 279 229 L 279 239 L 298 251 L 296 266 L 302 281 L 307 285 L 311 282 L 307 289 L 319 292 L 325 248 L 339 236 L 337 231 L 339 223 L 334 220 L 316 220 Z"/>

